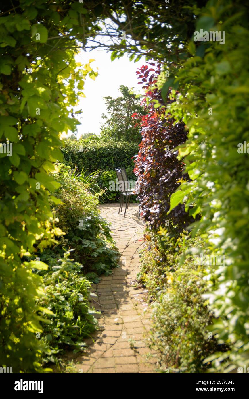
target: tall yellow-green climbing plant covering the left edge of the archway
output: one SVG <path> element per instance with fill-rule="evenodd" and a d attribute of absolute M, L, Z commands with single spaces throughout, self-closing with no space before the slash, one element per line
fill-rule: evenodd
<path fill-rule="evenodd" d="M 32 271 L 47 266 L 23 259 L 62 233 L 50 210 L 60 186 L 51 174 L 62 160 L 61 133 L 76 130 L 68 109 L 84 95 L 86 76 L 97 75 L 92 60 L 74 60 L 86 9 L 69 4 L 65 12 L 59 1 L 0 6 L 0 364 L 14 372 L 40 367 L 36 336 L 50 311 L 36 305 L 44 291 Z"/>

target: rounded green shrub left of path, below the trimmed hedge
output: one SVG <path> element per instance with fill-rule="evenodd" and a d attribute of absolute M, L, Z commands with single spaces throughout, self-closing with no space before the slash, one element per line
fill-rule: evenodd
<path fill-rule="evenodd" d="M 98 276 L 110 274 L 118 260 L 108 223 L 97 209 L 101 193 L 91 194 L 87 185 L 74 178 L 72 170 L 64 164 L 59 169 L 56 180 L 61 187 L 54 196 L 62 201 L 55 209 L 58 227 L 66 233 L 62 245 L 66 241 L 75 249 L 74 259 L 83 265 L 86 277 L 98 282 Z M 62 253 L 62 247 L 57 248 Z"/>

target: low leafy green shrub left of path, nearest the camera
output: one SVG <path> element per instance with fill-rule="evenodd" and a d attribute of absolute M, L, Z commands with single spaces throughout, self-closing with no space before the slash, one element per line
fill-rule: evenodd
<path fill-rule="evenodd" d="M 83 274 L 83 265 L 68 259 L 69 254 L 65 253 L 43 276 L 46 289 L 38 306 L 50 311 L 42 319 L 41 338 L 50 347 L 45 361 L 55 361 L 55 354 L 65 346 L 73 346 L 74 352 L 84 350 L 83 339 L 96 329 L 97 320 L 88 299 L 90 282 Z"/>

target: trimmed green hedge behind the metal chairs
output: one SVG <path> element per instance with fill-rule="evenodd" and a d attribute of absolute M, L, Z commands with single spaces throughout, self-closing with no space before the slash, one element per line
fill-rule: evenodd
<path fill-rule="evenodd" d="M 103 140 L 94 136 L 78 141 L 66 139 L 62 152 L 65 161 L 72 167 L 77 165 L 79 171 L 105 171 L 123 166 L 127 169 L 128 178 L 133 178 L 134 162 L 131 158 L 138 153 L 138 149 L 138 144 L 134 142 Z"/>

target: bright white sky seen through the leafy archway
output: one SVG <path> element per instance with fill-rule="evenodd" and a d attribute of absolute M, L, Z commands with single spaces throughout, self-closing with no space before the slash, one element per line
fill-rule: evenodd
<path fill-rule="evenodd" d="M 111 61 L 111 53 L 103 50 L 95 49 L 92 51 L 81 51 L 76 56 L 77 62 L 88 63 L 89 59 L 95 59 L 91 63 L 92 68 L 96 71 L 98 67 L 98 77 L 92 80 L 87 77 L 84 85 L 84 94 L 86 98 L 80 97 L 79 107 L 75 111 L 82 109 L 83 113 L 75 115 L 82 123 L 78 125 L 77 137 L 84 133 L 100 134 L 100 127 L 104 120 L 101 118 L 102 113 L 106 113 L 106 105 L 103 97 L 120 97 L 118 91 L 120 85 L 134 87 L 136 92 L 141 92 L 141 85 L 137 85 L 136 70 L 145 64 L 145 58 L 142 57 L 138 62 L 129 61 L 127 55 L 120 59 Z"/>

